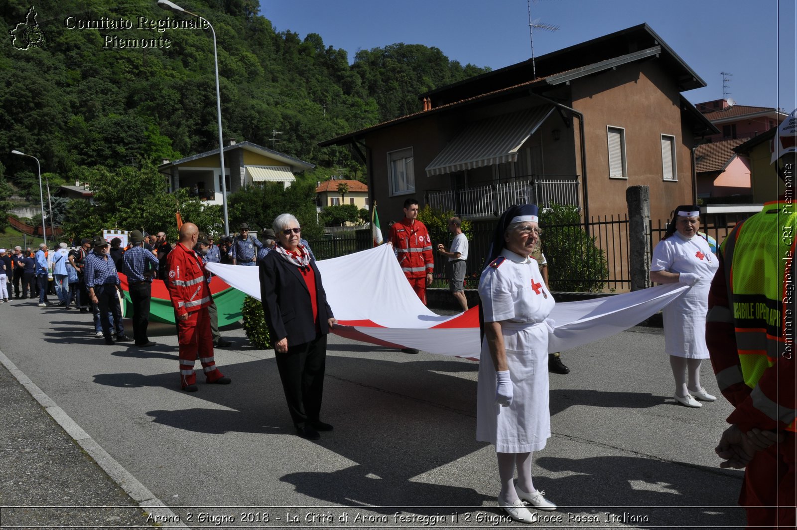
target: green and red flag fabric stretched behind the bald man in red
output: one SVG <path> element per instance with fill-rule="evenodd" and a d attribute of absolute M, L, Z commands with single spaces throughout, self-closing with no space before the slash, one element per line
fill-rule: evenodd
<path fill-rule="evenodd" d="M 119 279 L 122 283 L 122 291 L 124 291 L 124 314 L 133 314 L 130 293 L 128 292 L 128 277 L 120 272 Z M 210 280 L 210 294 L 213 295 L 218 309 L 219 327 L 230 326 L 230 324 L 241 320 L 241 307 L 243 307 L 244 299 L 246 298 L 245 292 L 230 287 L 230 284 L 223 279 L 214 276 Z M 149 319 L 150 322 L 175 323 L 175 310 L 171 305 L 169 291 L 162 279 L 152 281 L 152 301 Z"/>

